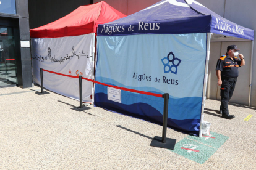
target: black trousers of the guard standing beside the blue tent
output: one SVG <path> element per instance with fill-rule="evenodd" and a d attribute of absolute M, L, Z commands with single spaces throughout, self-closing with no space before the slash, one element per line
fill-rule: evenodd
<path fill-rule="evenodd" d="M 237 78 L 222 79 L 221 84 L 221 107 L 222 114 L 228 115 L 228 102 L 231 99 Z"/>

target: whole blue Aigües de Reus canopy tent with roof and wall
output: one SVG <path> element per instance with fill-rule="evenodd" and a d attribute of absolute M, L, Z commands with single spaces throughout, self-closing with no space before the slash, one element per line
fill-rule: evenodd
<path fill-rule="evenodd" d="M 168 126 L 201 137 L 212 34 L 254 40 L 254 30 L 193 0 L 163 0 L 98 25 L 96 81 L 168 92 Z M 95 85 L 96 106 L 162 121 L 163 99 L 122 91 L 117 101 L 108 90 Z"/>

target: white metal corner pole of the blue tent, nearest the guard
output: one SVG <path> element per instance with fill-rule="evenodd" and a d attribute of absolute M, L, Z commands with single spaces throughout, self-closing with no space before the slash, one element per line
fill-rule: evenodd
<path fill-rule="evenodd" d="M 205 99 L 206 99 L 205 94 L 206 94 L 206 90 L 207 90 L 208 65 L 209 65 L 209 59 L 210 59 L 210 44 L 211 44 L 211 33 L 207 33 L 207 56 L 205 59 L 205 79 L 204 79 L 204 83 L 203 83 L 203 100 L 202 100 L 199 137 L 202 137 L 203 112 L 205 110 Z"/>

